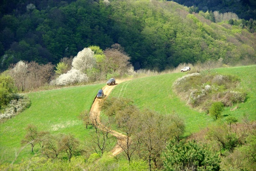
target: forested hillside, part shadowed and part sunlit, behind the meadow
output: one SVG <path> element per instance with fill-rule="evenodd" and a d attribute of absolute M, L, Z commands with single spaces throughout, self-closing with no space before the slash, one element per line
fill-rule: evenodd
<path fill-rule="evenodd" d="M 56 65 L 85 47 L 104 50 L 116 43 L 135 70 L 207 59 L 255 62 L 255 20 L 214 10 L 169 1 L 2 1 L 1 70 L 19 60 Z"/>

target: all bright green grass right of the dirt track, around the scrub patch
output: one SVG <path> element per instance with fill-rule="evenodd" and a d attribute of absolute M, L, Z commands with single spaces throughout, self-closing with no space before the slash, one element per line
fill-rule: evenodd
<path fill-rule="evenodd" d="M 244 114 L 248 115 L 250 120 L 256 119 L 255 69 L 255 66 L 245 66 L 220 68 L 213 71 L 219 74 L 239 76 L 241 79 L 241 88 L 248 93 L 245 103 L 240 103 L 239 108 L 234 111 L 226 108 L 222 113 L 223 115 L 237 117 L 239 121 L 243 119 Z M 185 121 L 185 135 L 189 135 L 215 122 L 206 113 L 200 113 L 191 109 L 186 105 L 185 101 L 181 101 L 173 92 L 173 82 L 185 74 L 187 73 L 164 74 L 122 82 L 113 90 L 111 95 L 131 98 L 140 108 L 150 108 L 162 114 L 177 113 Z"/>

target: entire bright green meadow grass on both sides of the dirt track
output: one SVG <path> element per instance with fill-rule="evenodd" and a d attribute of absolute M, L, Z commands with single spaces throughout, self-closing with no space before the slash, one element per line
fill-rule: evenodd
<path fill-rule="evenodd" d="M 244 115 L 248 115 L 250 120 L 256 120 L 256 66 L 220 68 L 214 72 L 239 76 L 241 88 L 247 92 L 246 101 L 240 103 L 237 110 L 230 111 L 230 108 L 226 108 L 222 115 L 237 117 L 239 121 L 242 121 Z M 184 136 L 188 136 L 214 124 L 215 121 L 206 113 L 191 109 L 173 92 L 174 81 L 187 73 L 169 73 L 125 81 L 119 83 L 110 96 L 131 98 L 139 108 L 149 108 L 160 114 L 175 112 L 185 121 Z M 32 102 L 30 108 L 0 124 L 0 162 L 10 163 L 14 160 L 15 152 L 21 147 L 20 141 L 26 134 L 25 127 L 29 123 L 36 125 L 38 131 L 72 133 L 81 142 L 89 139 L 90 130 L 84 128 L 77 116 L 83 110 L 90 110 L 97 91 L 104 86 L 105 84 L 94 84 L 27 93 Z M 30 146 L 26 146 L 16 162 L 34 155 L 40 155 L 39 146 L 35 146 L 34 153 L 30 152 Z"/>

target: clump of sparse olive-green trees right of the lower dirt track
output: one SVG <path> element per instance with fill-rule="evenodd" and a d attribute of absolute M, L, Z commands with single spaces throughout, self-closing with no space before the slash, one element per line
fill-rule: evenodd
<path fill-rule="evenodd" d="M 139 110 L 130 99 L 108 98 L 102 109 L 126 136 L 126 143 L 119 145 L 127 160 L 131 162 L 135 153 L 143 155 L 148 160 L 150 170 L 159 167 L 159 158 L 166 141 L 170 137 L 180 140 L 185 130 L 183 120 L 177 115 L 161 115 L 148 109 Z"/>

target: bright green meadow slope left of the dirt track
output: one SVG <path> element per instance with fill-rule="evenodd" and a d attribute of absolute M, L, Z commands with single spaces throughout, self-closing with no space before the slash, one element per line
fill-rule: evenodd
<path fill-rule="evenodd" d="M 1 163 L 11 162 L 15 152 L 20 149 L 20 141 L 24 138 L 25 127 L 32 123 L 38 131 L 50 131 L 52 134 L 73 134 L 84 141 L 89 131 L 84 129 L 83 123 L 77 118 L 83 110 L 90 110 L 93 100 L 104 84 L 81 86 L 28 93 L 31 106 L 28 110 L 2 123 L 1 126 Z M 39 146 L 35 146 L 33 154 L 38 153 Z M 17 162 L 32 157 L 30 146 L 27 146 L 17 158 Z"/>

